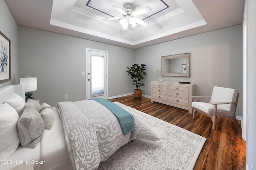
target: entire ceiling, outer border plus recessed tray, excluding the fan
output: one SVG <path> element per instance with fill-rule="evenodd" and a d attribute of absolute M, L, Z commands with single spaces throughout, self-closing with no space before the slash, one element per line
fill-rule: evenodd
<path fill-rule="evenodd" d="M 242 23 L 244 0 L 5 0 L 18 25 L 137 49 Z M 111 7 L 133 11 L 150 25 L 123 30 Z"/>

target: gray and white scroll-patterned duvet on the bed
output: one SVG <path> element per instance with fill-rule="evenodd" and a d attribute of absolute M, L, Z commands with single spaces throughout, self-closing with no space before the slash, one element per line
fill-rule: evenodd
<path fill-rule="evenodd" d="M 159 140 L 134 113 L 134 131 L 123 135 L 115 115 L 94 100 L 59 102 L 57 107 L 70 160 L 76 170 L 98 168 L 100 162 L 134 139 Z"/>

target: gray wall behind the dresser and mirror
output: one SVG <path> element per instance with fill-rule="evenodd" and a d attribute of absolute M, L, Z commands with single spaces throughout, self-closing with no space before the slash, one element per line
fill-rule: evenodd
<path fill-rule="evenodd" d="M 146 64 L 143 94 L 150 96 L 153 70 L 161 67 L 161 56 L 190 53 L 190 78 L 162 77 L 164 81 L 196 83 L 198 96 L 210 96 L 213 86 L 240 92 L 236 115 L 242 116 L 242 25 L 168 41 L 134 51 L 135 63 Z"/>

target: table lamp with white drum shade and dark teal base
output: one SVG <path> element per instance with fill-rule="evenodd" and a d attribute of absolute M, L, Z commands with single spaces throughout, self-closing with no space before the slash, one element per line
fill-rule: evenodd
<path fill-rule="evenodd" d="M 25 96 L 26 96 L 26 102 L 28 99 L 33 99 L 32 92 L 37 90 L 37 81 L 36 77 L 26 77 L 26 78 L 20 78 L 20 84 L 23 85 L 24 90 L 25 90 Z"/>

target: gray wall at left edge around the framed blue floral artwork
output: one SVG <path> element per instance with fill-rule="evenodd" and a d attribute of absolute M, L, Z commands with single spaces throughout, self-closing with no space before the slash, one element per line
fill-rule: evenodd
<path fill-rule="evenodd" d="M 0 87 L 18 84 L 18 25 L 4 0 L 0 0 L 0 31 L 11 41 L 11 81 L 0 83 Z"/>

